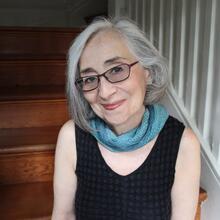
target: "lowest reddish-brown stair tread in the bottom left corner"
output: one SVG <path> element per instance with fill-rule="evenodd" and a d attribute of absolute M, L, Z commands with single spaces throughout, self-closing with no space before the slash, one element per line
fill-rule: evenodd
<path fill-rule="evenodd" d="M 52 213 L 52 182 L 0 186 L 0 219 L 47 219 Z"/>

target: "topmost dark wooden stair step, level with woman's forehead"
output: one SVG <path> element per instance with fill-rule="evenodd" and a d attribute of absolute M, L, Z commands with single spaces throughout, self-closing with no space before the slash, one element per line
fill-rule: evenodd
<path fill-rule="evenodd" d="M 79 28 L 0 28 L 0 60 L 66 59 Z"/>

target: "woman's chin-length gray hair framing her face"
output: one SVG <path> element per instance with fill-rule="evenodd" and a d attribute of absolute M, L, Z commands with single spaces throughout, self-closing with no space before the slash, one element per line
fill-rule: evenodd
<path fill-rule="evenodd" d="M 69 49 L 67 68 L 66 92 L 70 114 L 74 122 L 86 131 L 91 131 L 89 119 L 94 117 L 94 112 L 82 91 L 76 88 L 75 80 L 79 77 L 79 60 L 87 42 L 98 32 L 105 30 L 117 32 L 139 63 L 149 70 L 150 80 L 146 85 L 145 106 L 158 102 L 168 85 L 166 60 L 133 21 L 124 18 L 96 19 L 74 40 Z"/>

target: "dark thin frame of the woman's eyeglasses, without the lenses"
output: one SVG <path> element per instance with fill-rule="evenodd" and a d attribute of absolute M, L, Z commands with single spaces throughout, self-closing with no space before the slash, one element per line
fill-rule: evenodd
<path fill-rule="evenodd" d="M 93 89 L 83 90 L 83 89 L 79 86 L 80 82 L 81 82 L 84 78 L 88 78 L 88 76 L 79 77 L 78 79 L 76 79 L 76 81 L 75 81 L 75 86 L 76 86 L 78 89 L 80 89 L 81 91 L 83 91 L 83 92 L 90 92 L 90 91 L 95 90 L 95 89 L 98 88 L 99 82 L 100 82 L 100 77 L 102 77 L 102 76 L 105 77 L 105 79 L 106 79 L 108 82 L 110 82 L 110 83 L 122 82 L 122 81 L 124 81 L 124 80 L 126 80 L 126 79 L 128 79 L 128 78 L 130 77 L 131 67 L 134 66 L 135 64 L 137 64 L 138 62 L 139 62 L 139 61 L 135 61 L 135 62 L 133 62 L 133 63 L 131 63 L 131 64 L 121 63 L 120 65 L 114 66 L 114 67 L 112 67 L 112 68 L 106 70 L 106 71 L 105 71 L 104 73 L 102 73 L 102 74 L 97 74 L 97 75 L 91 75 L 91 76 L 89 76 L 89 77 L 97 77 L 97 78 L 98 78 L 97 86 L 96 86 L 95 88 L 93 88 Z M 109 70 L 111 70 L 111 69 L 113 69 L 113 68 L 120 67 L 121 65 L 127 65 L 127 66 L 128 66 L 128 68 L 129 68 L 129 69 L 128 69 L 128 76 L 127 76 L 126 78 L 122 79 L 122 80 L 119 80 L 119 81 L 116 81 L 116 82 L 112 82 L 111 80 L 108 79 L 108 77 L 106 76 L 106 73 L 109 72 Z"/>

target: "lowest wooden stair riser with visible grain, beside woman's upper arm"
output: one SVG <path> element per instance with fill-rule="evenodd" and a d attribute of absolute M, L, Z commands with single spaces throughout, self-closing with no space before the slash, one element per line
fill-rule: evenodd
<path fill-rule="evenodd" d="M 54 150 L 0 154 L 0 185 L 52 181 Z"/>

